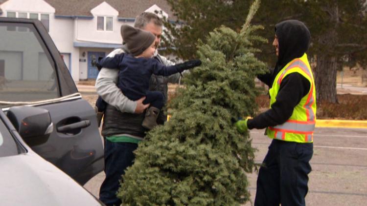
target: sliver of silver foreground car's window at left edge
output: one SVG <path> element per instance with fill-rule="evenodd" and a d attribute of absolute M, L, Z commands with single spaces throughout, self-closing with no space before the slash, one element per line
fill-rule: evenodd
<path fill-rule="evenodd" d="M 0 157 L 18 154 L 18 147 L 8 128 L 0 119 Z"/>

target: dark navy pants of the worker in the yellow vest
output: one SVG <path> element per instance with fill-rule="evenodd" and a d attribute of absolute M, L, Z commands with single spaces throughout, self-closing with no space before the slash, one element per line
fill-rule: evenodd
<path fill-rule="evenodd" d="M 255 206 L 304 206 L 312 143 L 273 140 L 257 177 Z"/>

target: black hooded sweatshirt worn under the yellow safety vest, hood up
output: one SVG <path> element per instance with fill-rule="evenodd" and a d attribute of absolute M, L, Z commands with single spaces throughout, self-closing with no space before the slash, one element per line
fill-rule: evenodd
<path fill-rule="evenodd" d="M 275 68 L 258 79 L 272 87 L 279 71 L 289 62 L 300 58 L 307 51 L 310 44 L 310 32 L 300 21 L 288 20 L 275 25 L 275 35 L 278 38 L 278 61 Z M 249 129 L 262 129 L 285 123 L 293 113 L 293 109 L 308 94 L 310 82 L 299 73 L 291 73 L 280 83 L 276 101 L 267 111 L 249 119 Z"/>

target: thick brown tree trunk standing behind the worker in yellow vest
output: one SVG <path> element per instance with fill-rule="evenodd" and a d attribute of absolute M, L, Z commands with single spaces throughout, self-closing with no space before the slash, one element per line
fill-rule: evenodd
<path fill-rule="evenodd" d="M 336 92 L 337 58 L 326 55 L 317 56 L 315 69 L 316 101 L 337 103 Z"/>

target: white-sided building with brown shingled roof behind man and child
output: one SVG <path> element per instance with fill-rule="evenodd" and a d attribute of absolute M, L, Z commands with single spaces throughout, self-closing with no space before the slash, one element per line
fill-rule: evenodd
<path fill-rule="evenodd" d="M 0 17 L 44 24 L 75 82 L 97 77 L 93 62 L 120 47 L 121 25 L 133 25 L 144 11 L 175 20 L 165 0 L 0 0 Z M 6 55 L 0 51 L 0 59 Z"/>

